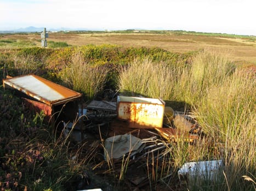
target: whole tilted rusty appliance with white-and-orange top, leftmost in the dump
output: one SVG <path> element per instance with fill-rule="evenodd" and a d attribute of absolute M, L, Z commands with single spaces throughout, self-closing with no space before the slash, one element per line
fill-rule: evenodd
<path fill-rule="evenodd" d="M 73 121 L 78 114 L 81 93 L 60 86 L 37 75 L 22 75 L 3 79 L 3 86 L 13 88 L 30 109 L 44 111 L 45 120 Z"/>

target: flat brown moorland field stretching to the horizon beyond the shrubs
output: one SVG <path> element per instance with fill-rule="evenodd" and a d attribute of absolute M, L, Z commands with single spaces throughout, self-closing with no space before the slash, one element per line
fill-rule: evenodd
<path fill-rule="evenodd" d="M 39 33 L 2 34 L 0 40 L 30 41 L 41 46 Z M 171 52 L 185 53 L 199 49 L 208 49 L 228 53 L 233 61 L 240 63 L 256 63 L 255 37 L 221 37 L 221 35 L 200 35 L 180 33 L 49 33 L 48 41 L 65 42 L 72 46 L 87 44 L 115 44 L 124 47 L 145 46 L 160 47 Z"/>

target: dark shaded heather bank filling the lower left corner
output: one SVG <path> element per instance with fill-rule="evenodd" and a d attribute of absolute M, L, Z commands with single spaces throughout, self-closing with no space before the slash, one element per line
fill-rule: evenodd
<path fill-rule="evenodd" d="M 73 152 L 68 137 L 64 141 L 50 132 L 43 114 L 32 115 L 3 87 L 0 103 L 1 190 L 77 190 L 89 159 L 79 160 L 81 153 Z"/>

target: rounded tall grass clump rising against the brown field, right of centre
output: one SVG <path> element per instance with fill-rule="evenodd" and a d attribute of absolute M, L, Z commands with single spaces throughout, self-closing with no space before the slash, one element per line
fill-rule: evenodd
<path fill-rule="evenodd" d="M 222 84 L 235 70 L 224 53 L 203 50 L 192 57 L 192 63 L 181 71 L 174 95 L 189 105 L 197 105 L 212 86 Z"/>

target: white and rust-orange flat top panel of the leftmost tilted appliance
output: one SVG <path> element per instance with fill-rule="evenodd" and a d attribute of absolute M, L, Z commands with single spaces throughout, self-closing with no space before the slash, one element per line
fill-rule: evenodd
<path fill-rule="evenodd" d="M 18 91 L 25 93 L 27 96 L 47 105 L 61 104 L 67 100 L 77 99 L 82 96 L 81 93 L 45 80 L 37 75 L 24 75 L 13 77 L 12 79 L 4 79 L 3 85 L 18 89 Z"/>

